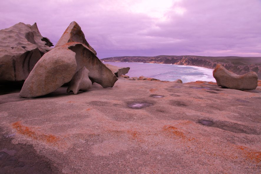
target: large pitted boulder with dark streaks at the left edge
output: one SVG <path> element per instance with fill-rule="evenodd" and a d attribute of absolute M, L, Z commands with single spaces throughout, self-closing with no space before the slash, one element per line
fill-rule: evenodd
<path fill-rule="evenodd" d="M 25 80 L 34 65 L 53 46 L 36 23 L 18 23 L 0 30 L 0 82 Z"/>

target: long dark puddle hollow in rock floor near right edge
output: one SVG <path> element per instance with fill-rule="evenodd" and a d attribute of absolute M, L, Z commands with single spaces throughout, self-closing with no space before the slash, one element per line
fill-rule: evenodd
<path fill-rule="evenodd" d="M 259 135 L 256 130 L 253 130 L 252 128 L 245 126 L 245 125 L 240 125 L 237 123 L 232 123 L 232 122 L 222 122 L 222 121 L 212 121 L 212 120 L 198 120 L 199 124 L 208 126 L 208 127 L 216 127 L 222 130 L 226 130 L 229 132 L 234 132 L 234 133 L 245 133 L 245 134 L 253 134 L 253 135 Z"/>

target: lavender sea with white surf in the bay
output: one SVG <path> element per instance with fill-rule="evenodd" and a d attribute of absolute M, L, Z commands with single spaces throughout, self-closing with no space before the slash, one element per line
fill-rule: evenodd
<path fill-rule="evenodd" d="M 103 62 L 117 67 L 130 67 L 128 76 L 130 77 L 151 77 L 159 80 L 174 81 L 181 79 L 183 82 L 193 82 L 197 80 L 216 82 L 213 77 L 213 69 L 172 64 L 153 64 L 137 62 Z"/>

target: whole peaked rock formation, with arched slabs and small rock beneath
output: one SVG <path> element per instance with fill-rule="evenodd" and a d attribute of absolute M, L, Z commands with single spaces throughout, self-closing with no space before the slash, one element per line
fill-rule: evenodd
<path fill-rule="evenodd" d="M 64 42 L 68 32 L 70 38 L 68 42 Z M 92 82 L 102 87 L 113 87 L 118 78 L 96 57 L 91 47 L 86 45 L 85 38 L 81 37 L 84 37 L 84 34 L 80 26 L 72 22 L 59 40 L 60 44 L 64 44 L 55 46 L 37 62 L 19 95 L 26 98 L 46 95 L 71 80 L 68 92 L 72 90 L 75 94 L 79 90 L 89 89 Z"/>

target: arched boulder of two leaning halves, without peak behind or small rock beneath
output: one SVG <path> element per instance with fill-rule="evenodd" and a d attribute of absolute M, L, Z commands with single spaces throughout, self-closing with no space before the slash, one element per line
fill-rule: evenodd
<path fill-rule="evenodd" d="M 75 73 L 83 67 L 90 71 L 90 80 L 102 87 L 113 87 L 118 80 L 90 48 L 71 42 L 44 54 L 24 82 L 19 95 L 33 98 L 49 94 L 64 83 L 70 82 Z"/>

